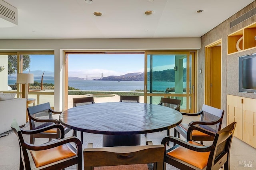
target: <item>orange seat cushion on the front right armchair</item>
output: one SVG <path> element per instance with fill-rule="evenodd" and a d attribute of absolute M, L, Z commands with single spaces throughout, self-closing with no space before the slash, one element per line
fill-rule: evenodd
<path fill-rule="evenodd" d="M 188 141 L 188 143 L 203 146 L 193 141 Z M 197 168 L 203 169 L 207 165 L 210 152 L 196 152 L 194 150 L 189 150 L 182 146 L 178 146 L 167 154 L 174 158 L 182 160 L 183 162 L 196 166 Z"/>

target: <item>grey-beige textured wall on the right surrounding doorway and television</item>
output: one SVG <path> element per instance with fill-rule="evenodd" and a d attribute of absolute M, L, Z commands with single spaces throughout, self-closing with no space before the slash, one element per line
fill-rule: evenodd
<path fill-rule="evenodd" d="M 198 52 L 198 69 L 202 69 L 204 73 L 204 61 L 205 61 L 205 46 L 222 39 L 222 89 L 221 89 L 221 105 L 225 110 L 223 118 L 223 126 L 226 125 L 226 96 L 227 94 L 244 96 L 248 98 L 256 98 L 255 94 L 238 93 L 238 57 L 246 54 L 256 52 L 256 48 L 252 50 L 246 50 L 238 52 L 236 54 L 227 55 L 227 37 L 229 34 L 248 26 L 256 22 L 256 15 L 244 20 L 240 24 L 230 28 L 230 22 L 238 18 L 242 14 L 248 12 L 252 8 L 256 7 L 256 1 L 252 2 L 230 18 L 225 20 L 214 29 L 210 30 L 201 37 L 201 49 Z M 256 33 L 255 33 L 256 34 Z M 202 84 L 202 88 L 198 88 L 198 108 L 202 108 L 204 104 L 204 74 L 198 75 L 198 84 Z"/>

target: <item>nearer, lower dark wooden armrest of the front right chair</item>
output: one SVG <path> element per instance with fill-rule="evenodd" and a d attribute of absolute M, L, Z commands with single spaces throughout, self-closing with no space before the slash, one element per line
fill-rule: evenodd
<path fill-rule="evenodd" d="M 164 147 L 166 148 L 167 142 L 174 142 L 184 148 L 188 148 L 189 150 L 194 150 L 197 152 L 209 152 L 211 151 L 211 146 L 197 146 L 197 145 L 193 145 L 190 144 L 184 140 L 181 140 L 179 138 L 173 137 L 173 136 L 167 136 L 165 138 L 162 139 L 161 144 L 164 144 Z M 177 145 L 177 146 L 178 146 Z M 177 147 L 175 146 L 175 147 Z M 165 149 L 166 152 L 166 149 Z"/>

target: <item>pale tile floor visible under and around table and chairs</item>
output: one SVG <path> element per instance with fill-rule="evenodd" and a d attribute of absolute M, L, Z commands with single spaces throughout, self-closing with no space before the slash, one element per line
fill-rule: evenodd
<path fill-rule="evenodd" d="M 26 127 L 28 129 L 29 127 Z M 162 138 L 166 136 L 167 132 L 156 132 L 141 135 L 141 144 L 146 144 L 146 140 L 151 140 L 153 144 L 160 144 Z M 171 135 L 173 130 L 171 130 Z M 80 133 L 78 133 L 80 135 Z M 70 131 L 66 136 L 72 136 Z M 24 137 L 26 141 L 29 141 L 29 136 Z M 80 138 L 80 136 L 78 136 Z M 46 139 L 36 139 L 36 144 L 47 142 Z M 84 133 L 83 147 L 87 148 L 88 143 L 93 143 L 94 148 L 102 147 L 102 135 Z M 206 144 L 206 143 L 204 143 Z M 172 146 L 172 144 L 170 144 Z M 14 133 L 10 133 L 8 136 L 0 138 L 0 170 L 18 170 L 19 169 L 19 146 L 18 140 Z M 252 167 L 244 167 L 243 162 L 252 164 Z M 76 166 L 66 168 L 66 170 L 74 170 Z M 177 170 L 170 165 L 167 165 L 167 170 Z M 233 138 L 231 154 L 230 154 L 230 170 L 256 170 L 256 149 L 242 142 L 237 138 Z"/>

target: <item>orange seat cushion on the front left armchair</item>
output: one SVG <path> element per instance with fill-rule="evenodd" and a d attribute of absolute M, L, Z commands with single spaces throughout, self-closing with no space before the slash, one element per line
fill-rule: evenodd
<path fill-rule="evenodd" d="M 47 150 L 30 150 L 30 153 L 37 168 L 76 155 L 66 144 Z"/>

